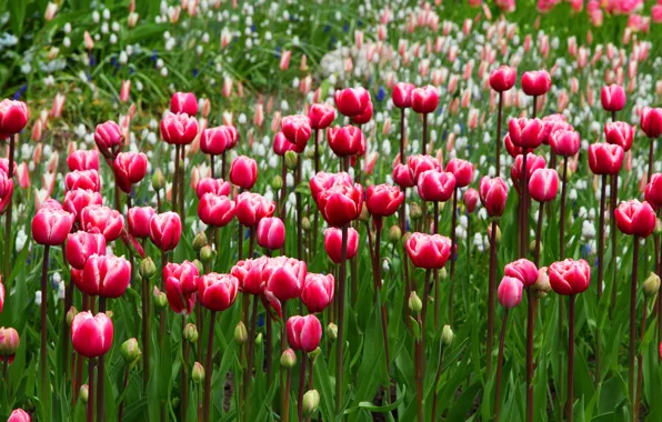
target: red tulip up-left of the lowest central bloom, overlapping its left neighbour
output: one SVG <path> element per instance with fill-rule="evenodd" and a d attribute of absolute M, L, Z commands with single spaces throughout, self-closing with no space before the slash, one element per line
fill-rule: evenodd
<path fill-rule="evenodd" d="M 301 294 L 307 265 L 304 261 L 281 255 L 270 259 L 262 274 L 267 281 L 265 290 L 283 302 Z"/>

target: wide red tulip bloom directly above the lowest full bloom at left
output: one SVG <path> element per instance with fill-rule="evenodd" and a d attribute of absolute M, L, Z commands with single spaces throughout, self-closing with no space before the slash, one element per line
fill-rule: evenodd
<path fill-rule="evenodd" d="M 91 255 L 82 272 L 83 292 L 119 298 L 131 283 L 131 263 L 124 257 Z"/>

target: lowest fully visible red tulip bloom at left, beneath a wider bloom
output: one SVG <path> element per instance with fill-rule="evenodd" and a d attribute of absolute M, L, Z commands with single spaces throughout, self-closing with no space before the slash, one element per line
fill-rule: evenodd
<path fill-rule="evenodd" d="M 112 346 L 112 321 L 106 313 L 92 316 L 89 311 L 77 314 L 71 322 L 73 349 L 86 358 L 99 358 Z"/>

